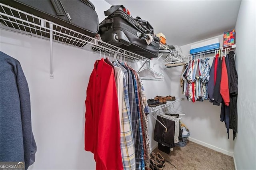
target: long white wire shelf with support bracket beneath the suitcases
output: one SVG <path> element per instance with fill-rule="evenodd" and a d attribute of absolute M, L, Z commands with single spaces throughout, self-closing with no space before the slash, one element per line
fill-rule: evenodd
<path fill-rule="evenodd" d="M 52 70 L 52 42 L 118 56 L 126 61 L 144 61 L 146 57 L 116 47 L 59 24 L 0 3 L 0 29 L 50 41 L 50 78 Z"/>

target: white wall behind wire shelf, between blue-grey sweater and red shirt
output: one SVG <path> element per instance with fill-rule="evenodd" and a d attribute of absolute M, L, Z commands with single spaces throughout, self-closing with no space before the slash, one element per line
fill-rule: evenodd
<path fill-rule="evenodd" d="M 92 0 L 99 20 L 110 5 Z M 0 31 L 0 50 L 18 59 L 28 81 L 36 162 L 29 169 L 95 169 L 93 154 L 84 150 L 86 89 L 98 54 L 53 44 L 50 79 L 50 43 Z"/>

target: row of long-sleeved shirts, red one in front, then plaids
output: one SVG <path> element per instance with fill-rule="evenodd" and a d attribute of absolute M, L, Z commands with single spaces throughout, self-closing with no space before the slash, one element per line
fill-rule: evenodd
<path fill-rule="evenodd" d="M 149 168 L 149 108 L 138 73 L 119 60 L 97 60 L 86 93 L 85 150 L 96 169 Z"/>

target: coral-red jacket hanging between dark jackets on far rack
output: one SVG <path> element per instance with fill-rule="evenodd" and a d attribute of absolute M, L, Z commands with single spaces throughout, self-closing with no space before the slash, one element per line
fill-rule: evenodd
<path fill-rule="evenodd" d="M 220 94 L 226 106 L 229 105 L 229 89 L 228 89 L 228 71 L 226 67 L 225 57 L 222 57 L 222 72 L 220 81 Z"/>

